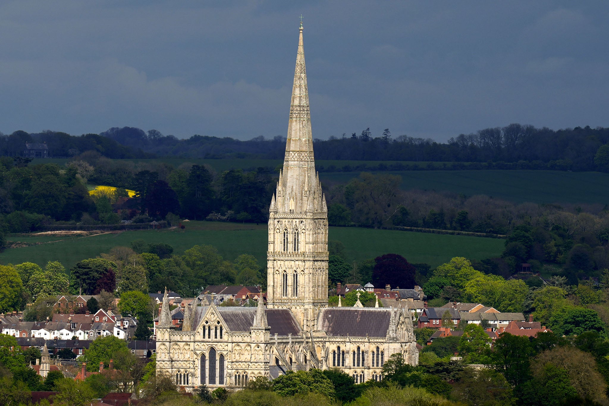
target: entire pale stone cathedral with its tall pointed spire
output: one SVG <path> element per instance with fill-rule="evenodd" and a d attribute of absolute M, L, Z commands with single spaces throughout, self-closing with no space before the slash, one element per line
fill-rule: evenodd
<path fill-rule="evenodd" d="M 269 207 L 267 306 L 186 306 L 171 322 L 167 290 L 157 326 L 157 374 L 192 391 L 242 387 L 287 371 L 337 368 L 361 383 L 381 380 L 399 353 L 417 365 L 407 309 L 328 307 L 328 209 L 315 172 L 300 24 L 286 155 Z"/>

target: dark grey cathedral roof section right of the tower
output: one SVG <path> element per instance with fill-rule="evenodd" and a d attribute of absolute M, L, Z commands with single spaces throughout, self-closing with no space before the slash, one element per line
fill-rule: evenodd
<path fill-rule="evenodd" d="M 319 313 L 317 329 L 328 335 L 385 337 L 390 317 L 390 309 L 384 307 L 331 307 Z"/>

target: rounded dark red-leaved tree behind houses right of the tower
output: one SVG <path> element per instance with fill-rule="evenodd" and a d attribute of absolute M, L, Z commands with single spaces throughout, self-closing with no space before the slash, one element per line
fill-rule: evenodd
<path fill-rule="evenodd" d="M 383 289 L 391 285 L 392 289 L 412 289 L 415 285 L 416 268 L 401 255 L 384 254 L 375 258 L 376 265 L 372 271 L 372 284 Z"/>

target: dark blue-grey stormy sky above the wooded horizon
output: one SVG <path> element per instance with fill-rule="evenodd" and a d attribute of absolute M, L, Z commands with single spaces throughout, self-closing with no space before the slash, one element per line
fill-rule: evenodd
<path fill-rule="evenodd" d="M 3 1 L 0 131 L 315 138 L 609 126 L 607 1 Z"/>

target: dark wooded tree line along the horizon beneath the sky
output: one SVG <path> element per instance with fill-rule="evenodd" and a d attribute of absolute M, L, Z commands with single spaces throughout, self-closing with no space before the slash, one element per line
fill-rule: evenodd
<path fill-rule="evenodd" d="M 202 135 L 178 139 L 173 135 L 163 135 L 158 130 L 146 132 L 135 127 L 113 127 L 99 135 L 82 136 L 49 130 L 31 134 L 15 131 L 10 135 L 0 133 L 0 155 L 19 156 L 26 142 L 46 142 L 49 155 L 54 157 L 71 157 L 94 150 L 107 158 L 282 159 L 286 139 L 283 136 L 270 139 L 258 136 L 241 141 Z M 314 139 L 314 142 L 317 159 L 491 162 L 500 164 L 498 169 L 609 170 L 609 128 L 591 128 L 587 125 L 583 128 L 551 130 L 514 123 L 460 134 L 447 142 L 407 135 L 393 138 L 389 128 L 375 136 L 370 128 L 366 128 L 359 134 L 343 133 L 329 139 Z M 404 169 L 413 168 L 392 170 Z M 482 167 L 474 166 L 471 169 Z"/>

